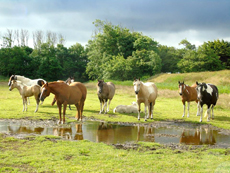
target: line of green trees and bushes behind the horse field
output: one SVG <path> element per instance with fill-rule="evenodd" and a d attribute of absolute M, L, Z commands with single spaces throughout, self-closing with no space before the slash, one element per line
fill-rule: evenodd
<path fill-rule="evenodd" d="M 159 44 L 140 32 L 96 20 L 92 39 L 64 46 L 61 34 L 33 33 L 34 48 L 28 47 L 28 31 L 11 31 L 2 36 L 0 74 L 20 74 L 46 80 L 95 79 L 132 80 L 165 72 L 200 72 L 230 69 L 230 42 L 214 40 L 196 48 L 184 39 L 177 49 Z"/>

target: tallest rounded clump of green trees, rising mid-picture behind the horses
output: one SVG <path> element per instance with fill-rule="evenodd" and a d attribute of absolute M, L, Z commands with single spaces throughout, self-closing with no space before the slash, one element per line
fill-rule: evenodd
<path fill-rule="evenodd" d="M 94 39 L 88 44 L 86 73 L 91 79 L 129 80 L 161 71 L 161 59 L 156 53 L 157 42 L 120 26 L 100 20 Z"/>

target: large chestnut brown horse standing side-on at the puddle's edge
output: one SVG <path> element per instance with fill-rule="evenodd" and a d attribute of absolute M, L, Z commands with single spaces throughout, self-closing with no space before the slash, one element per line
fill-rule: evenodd
<path fill-rule="evenodd" d="M 74 104 L 78 113 L 76 114 L 77 120 L 82 120 L 82 112 L 87 95 L 86 87 L 81 82 L 73 82 L 70 85 L 66 85 L 63 82 L 50 82 L 46 83 L 41 88 L 40 100 L 44 100 L 46 97 L 53 93 L 57 100 L 57 106 L 59 108 L 59 123 L 65 123 L 65 112 L 67 104 Z M 61 116 L 61 109 L 63 105 L 63 120 Z"/>

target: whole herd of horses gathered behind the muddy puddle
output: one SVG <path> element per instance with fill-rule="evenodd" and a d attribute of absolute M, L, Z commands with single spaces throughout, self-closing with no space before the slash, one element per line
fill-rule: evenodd
<path fill-rule="evenodd" d="M 185 116 L 185 107 L 187 102 L 187 117 L 189 117 L 189 106 L 190 102 L 195 101 L 197 103 L 197 116 L 200 116 L 200 122 L 202 122 L 203 116 L 203 105 L 207 105 L 206 114 L 208 115 L 207 121 L 214 118 L 213 108 L 216 105 L 219 94 L 218 89 L 213 84 L 208 83 L 198 83 L 196 82 L 191 87 L 183 82 L 178 81 L 179 84 L 179 94 L 182 99 L 184 106 L 184 113 L 182 117 Z M 66 81 L 54 81 L 46 82 L 44 79 L 29 79 L 20 75 L 12 75 L 8 82 L 9 90 L 17 88 L 22 100 L 23 100 L 23 111 L 27 110 L 27 98 L 34 96 L 37 107 L 35 112 L 38 111 L 39 102 L 43 102 L 50 93 L 54 94 L 53 102 L 54 105 L 57 102 L 59 109 L 59 122 L 65 123 L 65 114 L 67 105 L 75 105 L 77 113 L 75 118 L 82 121 L 82 113 L 84 109 L 84 104 L 87 96 L 87 89 L 81 82 L 74 82 L 74 78 L 68 78 Z M 157 99 L 158 90 L 154 83 L 147 82 L 144 83 L 139 79 L 134 79 L 133 82 L 134 92 L 136 94 L 136 103 L 131 106 L 119 105 L 118 107 L 122 110 L 126 107 L 132 107 L 138 114 L 138 120 L 140 120 L 141 103 L 144 103 L 145 107 L 145 121 L 148 118 L 153 119 L 153 109 Z M 109 106 L 111 100 L 115 95 L 115 85 L 112 82 L 104 82 L 104 80 L 98 80 L 97 82 L 97 95 L 100 101 L 100 112 L 109 112 Z M 109 101 L 109 102 L 108 102 Z M 108 103 L 107 103 L 108 102 Z M 63 111 L 62 111 L 63 105 Z M 114 109 L 114 112 L 116 109 Z M 148 112 L 147 112 L 148 110 Z M 132 113 L 132 112 L 130 112 Z"/>

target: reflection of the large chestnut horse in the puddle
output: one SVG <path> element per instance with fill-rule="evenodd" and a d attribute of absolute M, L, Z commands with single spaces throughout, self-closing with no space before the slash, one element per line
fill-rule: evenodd
<path fill-rule="evenodd" d="M 82 124 L 76 124 L 75 127 L 76 127 L 75 133 L 74 133 L 74 128 L 71 127 L 54 128 L 53 135 L 69 140 L 83 140 Z M 73 134 L 75 135 L 73 136 Z"/>

